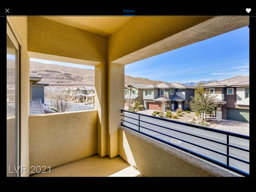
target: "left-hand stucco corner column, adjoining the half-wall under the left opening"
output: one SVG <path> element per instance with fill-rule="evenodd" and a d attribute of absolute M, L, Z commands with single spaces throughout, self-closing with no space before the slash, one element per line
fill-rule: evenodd
<path fill-rule="evenodd" d="M 86 98 L 88 101 L 88 97 Z M 100 63 L 95 66 L 95 108 L 98 111 L 98 154 L 108 155 L 108 124 L 107 124 L 107 66 Z"/>

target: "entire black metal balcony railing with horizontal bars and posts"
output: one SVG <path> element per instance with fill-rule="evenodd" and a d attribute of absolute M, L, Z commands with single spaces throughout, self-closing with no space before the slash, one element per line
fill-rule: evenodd
<path fill-rule="evenodd" d="M 241 175 L 243 175 L 243 176 L 249 176 L 249 173 L 244 172 L 244 171 L 242 171 L 242 170 L 239 170 L 239 169 L 237 169 L 237 168 L 234 168 L 234 167 L 230 166 L 230 163 L 229 163 L 229 162 L 230 162 L 230 161 L 229 161 L 230 159 L 235 159 L 236 161 L 243 162 L 243 163 L 245 163 L 245 164 L 249 164 L 248 161 L 245 161 L 245 160 L 243 160 L 243 159 L 239 159 L 239 158 L 237 158 L 237 157 L 234 157 L 234 156 L 230 155 L 230 148 L 234 148 L 234 149 L 237 149 L 237 150 L 241 150 L 241 151 L 245 151 L 245 152 L 250 153 L 250 151 L 249 151 L 248 149 L 231 145 L 231 144 L 230 144 L 230 136 L 236 137 L 236 138 L 245 139 L 245 140 L 249 140 L 249 136 L 247 136 L 247 135 L 241 135 L 241 134 L 237 134 L 237 133 L 232 133 L 232 132 L 228 132 L 228 131 L 221 131 L 221 130 L 218 130 L 218 129 L 212 129 L 212 128 L 209 128 L 209 127 L 199 126 L 199 125 L 196 125 L 196 124 L 189 124 L 189 123 L 185 123 L 185 122 L 179 122 L 179 121 L 170 120 L 170 119 L 167 119 L 167 118 L 160 118 L 160 117 L 156 117 L 156 116 L 150 116 L 150 115 L 146 115 L 146 114 L 134 113 L 134 112 L 131 112 L 131 111 L 121 110 L 121 113 L 123 113 L 123 112 L 131 113 L 131 114 L 137 115 L 137 116 L 136 116 L 137 118 L 133 118 L 133 117 L 125 116 L 124 114 L 121 114 L 121 116 L 123 116 L 123 117 L 126 117 L 126 118 L 129 118 L 129 119 L 138 121 L 138 124 L 135 124 L 135 123 L 129 122 L 128 120 L 122 119 L 122 120 L 121 120 L 121 121 L 122 121 L 122 122 L 121 122 L 121 126 L 126 127 L 126 128 L 128 128 L 128 129 L 132 129 L 132 130 L 134 130 L 134 131 L 136 131 L 136 132 L 138 132 L 138 133 L 141 133 L 141 134 L 143 134 L 143 135 L 146 135 L 146 136 L 148 136 L 148 137 L 151 137 L 151 138 L 153 138 L 153 139 L 156 139 L 156 140 L 158 140 L 158 141 L 160 141 L 160 142 L 163 142 L 163 143 L 168 144 L 168 145 L 170 145 L 170 146 L 173 146 L 173 147 L 175 147 L 175 148 L 178 148 L 178 149 L 180 149 L 180 150 L 182 150 L 182 151 L 185 151 L 185 152 L 187 152 L 187 153 L 190 153 L 191 155 L 195 155 L 195 156 L 197 156 L 197 157 L 200 157 L 201 159 L 204 159 L 204 160 L 206 160 L 206 161 L 209 161 L 209 162 L 212 162 L 212 163 L 214 163 L 214 164 L 217 164 L 217 165 L 219 165 L 219 166 L 221 166 L 221 167 L 223 167 L 223 168 L 226 168 L 226 169 L 228 169 L 228 170 L 231 170 L 231 171 L 236 172 L 236 173 L 238 173 L 238 174 L 241 174 Z M 154 124 L 154 123 L 152 123 L 152 122 L 148 122 L 148 121 L 145 121 L 145 120 L 141 120 L 140 116 L 145 116 L 145 117 L 147 117 L 147 118 L 152 118 L 152 119 L 156 119 L 156 120 L 161 120 L 161 121 L 163 121 L 163 122 L 171 122 L 171 123 L 174 123 L 174 124 L 179 124 L 179 125 L 187 126 L 188 128 L 189 128 L 189 127 L 193 127 L 193 128 L 202 129 L 202 130 L 205 130 L 205 131 L 211 131 L 211 132 L 214 132 L 214 133 L 220 133 L 220 134 L 226 135 L 226 143 L 220 142 L 220 141 L 217 141 L 217 140 L 213 140 L 213 139 L 210 139 L 210 138 L 206 138 L 206 137 L 201 137 L 201 136 L 199 136 L 199 135 L 195 135 L 195 134 L 192 134 L 192 133 L 187 133 L 187 132 L 180 131 L 180 130 L 177 130 L 177 129 L 173 129 L 173 128 L 170 128 L 170 127 L 165 127 L 165 126 L 162 126 L 162 125 L 159 125 L 159 124 Z M 123 122 L 124 122 L 124 123 L 123 123 Z M 134 129 L 134 128 L 130 127 L 130 126 L 125 125 L 125 122 L 126 122 L 126 123 L 129 123 L 129 124 L 132 124 L 132 125 L 134 125 L 134 126 L 137 126 L 138 129 Z M 203 140 L 206 140 L 206 141 L 210 141 L 210 142 L 214 142 L 214 143 L 217 143 L 217 144 L 221 144 L 221 145 L 223 145 L 223 146 L 226 146 L 226 148 L 227 148 L 227 149 L 226 149 L 226 154 L 225 154 L 225 153 L 222 153 L 222 152 L 220 152 L 220 151 L 217 151 L 217 150 L 213 150 L 213 149 L 210 149 L 210 148 L 201 146 L 201 145 L 196 144 L 196 143 L 194 143 L 194 142 L 192 142 L 192 141 L 189 141 L 189 140 L 184 140 L 184 139 L 181 139 L 181 138 L 174 137 L 174 136 L 172 136 L 172 135 L 167 135 L 167 134 L 162 133 L 162 132 L 160 132 L 160 131 L 156 131 L 156 130 L 154 130 L 154 129 L 149 129 L 148 127 L 142 126 L 142 125 L 141 125 L 141 122 L 146 123 L 146 124 L 149 124 L 149 125 L 152 125 L 152 126 L 161 127 L 161 128 L 163 128 L 163 129 L 165 129 L 165 130 L 168 129 L 168 130 L 171 130 L 171 131 L 176 131 L 176 132 L 178 132 L 178 133 L 183 133 L 183 134 L 186 134 L 186 135 L 189 135 L 189 136 L 193 136 L 193 137 L 196 137 L 196 138 L 200 138 L 200 139 L 203 139 Z M 163 140 L 163 139 L 161 139 L 161 138 L 159 138 L 159 137 L 155 137 L 155 136 L 153 136 L 153 135 L 150 135 L 150 134 L 148 134 L 148 133 L 145 133 L 145 132 L 141 131 L 141 128 L 143 128 L 143 129 L 145 129 L 145 130 L 153 131 L 154 133 L 158 133 L 158 134 L 161 134 L 161 135 L 166 136 L 166 137 L 171 137 L 171 138 L 180 140 L 180 141 L 185 142 L 185 143 L 187 143 L 187 144 L 191 144 L 191 145 L 193 145 L 193 146 L 202 148 L 202 149 L 204 149 L 204 150 L 211 151 L 211 152 L 213 152 L 213 153 L 217 153 L 217 154 L 219 154 L 219 155 L 223 155 L 223 156 L 226 157 L 226 164 L 224 164 L 223 162 L 216 161 L 216 160 L 214 160 L 214 159 L 212 159 L 212 158 L 210 158 L 210 157 L 206 157 L 205 155 L 199 154 L 199 153 L 197 153 L 197 152 L 195 152 L 195 151 L 186 149 L 186 148 L 184 148 L 184 147 L 182 147 L 182 146 L 179 146 L 179 145 L 177 145 L 177 144 L 173 144 L 173 143 L 171 143 L 171 142 L 168 142 L 168 141 L 166 141 L 166 140 Z"/>

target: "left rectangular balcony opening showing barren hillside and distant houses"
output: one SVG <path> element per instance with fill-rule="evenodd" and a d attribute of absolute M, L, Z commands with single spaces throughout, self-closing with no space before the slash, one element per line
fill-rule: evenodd
<path fill-rule="evenodd" d="M 94 66 L 30 58 L 30 114 L 95 109 L 94 80 Z"/>

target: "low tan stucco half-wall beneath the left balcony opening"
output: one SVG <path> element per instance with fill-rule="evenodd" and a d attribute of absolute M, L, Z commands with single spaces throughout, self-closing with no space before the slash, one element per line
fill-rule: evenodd
<path fill-rule="evenodd" d="M 30 166 L 58 166 L 97 153 L 97 111 L 29 116 Z"/>

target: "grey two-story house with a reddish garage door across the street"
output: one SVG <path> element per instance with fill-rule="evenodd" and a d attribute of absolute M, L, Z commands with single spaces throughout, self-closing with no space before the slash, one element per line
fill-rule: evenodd
<path fill-rule="evenodd" d="M 171 110 L 178 108 L 182 110 L 189 109 L 190 96 L 195 95 L 196 88 L 174 82 L 148 85 L 141 89 L 143 89 L 145 109 L 160 111 L 163 100 L 167 102 Z M 166 111 L 166 109 L 164 109 L 164 111 Z"/>

